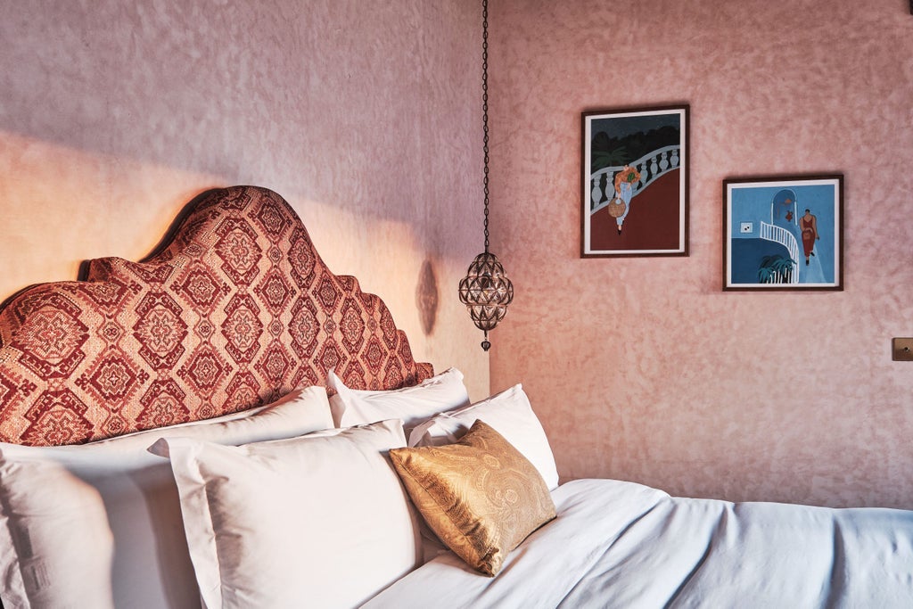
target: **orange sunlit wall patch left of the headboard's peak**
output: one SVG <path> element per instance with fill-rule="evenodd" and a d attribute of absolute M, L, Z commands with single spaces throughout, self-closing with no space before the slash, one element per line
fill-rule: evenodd
<path fill-rule="evenodd" d="M 0 132 L 0 295 L 75 279 L 88 258 L 137 260 L 215 178 Z"/>

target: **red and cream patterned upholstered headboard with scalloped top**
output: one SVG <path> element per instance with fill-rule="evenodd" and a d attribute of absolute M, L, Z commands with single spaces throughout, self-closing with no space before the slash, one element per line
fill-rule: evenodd
<path fill-rule="evenodd" d="M 141 262 L 83 265 L 0 310 L 0 440 L 79 444 L 267 404 L 335 368 L 356 388 L 431 376 L 381 299 L 326 267 L 254 186 L 208 191 Z"/>

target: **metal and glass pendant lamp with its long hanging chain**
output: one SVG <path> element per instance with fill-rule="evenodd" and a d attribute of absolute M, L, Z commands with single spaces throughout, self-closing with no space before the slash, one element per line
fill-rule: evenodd
<path fill-rule="evenodd" d="M 482 0 L 482 131 L 484 132 L 485 251 L 479 254 L 459 282 L 459 299 L 477 328 L 485 332 L 482 349 L 488 351 L 488 331 L 498 325 L 513 299 L 513 284 L 498 257 L 488 251 L 488 0 Z"/>

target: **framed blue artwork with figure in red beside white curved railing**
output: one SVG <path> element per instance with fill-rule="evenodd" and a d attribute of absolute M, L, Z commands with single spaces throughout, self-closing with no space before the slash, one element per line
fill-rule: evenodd
<path fill-rule="evenodd" d="M 723 181 L 723 289 L 844 289 L 844 176 Z"/>

